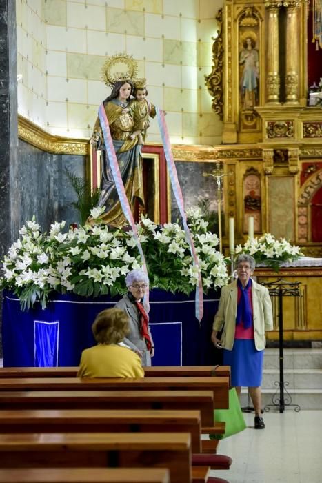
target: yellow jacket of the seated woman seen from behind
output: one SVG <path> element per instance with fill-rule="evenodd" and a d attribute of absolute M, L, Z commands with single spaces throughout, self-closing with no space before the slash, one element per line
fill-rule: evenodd
<path fill-rule="evenodd" d="M 131 349 L 98 344 L 82 352 L 77 377 L 144 377 L 144 371 Z"/>

